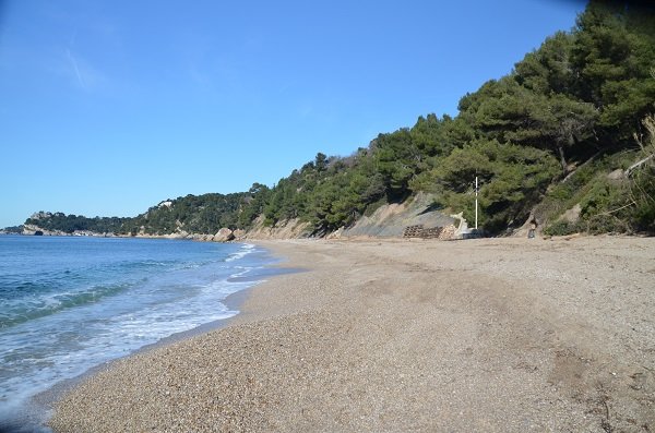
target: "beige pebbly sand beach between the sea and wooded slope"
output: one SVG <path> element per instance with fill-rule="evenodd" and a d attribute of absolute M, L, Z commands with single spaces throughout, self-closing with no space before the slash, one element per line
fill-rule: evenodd
<path fill-rule="evenodd" d="M 261 244 L 308 270 L 93 375 L 55 431 L 655 431 L 653 238 Z"/>

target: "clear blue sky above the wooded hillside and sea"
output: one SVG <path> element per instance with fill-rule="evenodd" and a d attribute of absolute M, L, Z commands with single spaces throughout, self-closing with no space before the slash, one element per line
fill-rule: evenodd
<path fill-rule="evenodd" d="M 509 73 L 563 0 L 0 0 L 0 227 L 349 155 Z"/>

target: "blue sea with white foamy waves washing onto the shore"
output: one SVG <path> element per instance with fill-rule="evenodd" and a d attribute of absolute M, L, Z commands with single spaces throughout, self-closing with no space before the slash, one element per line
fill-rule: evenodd
<path fill-rule="evenodd" d="M 238 314 L 226 298 L 275 262 L 248 243 L 0 236 L 0 432 L 49 432 L 35 396 Z"/>

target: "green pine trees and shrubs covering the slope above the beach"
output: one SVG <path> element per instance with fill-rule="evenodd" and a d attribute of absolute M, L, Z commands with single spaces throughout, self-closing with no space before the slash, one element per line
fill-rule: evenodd
<path fill-rule="evenodd" d="M 552 234 L 655 232 L 654 103 L 654 9 L 592 1 L 571 32 L 465 95 L 455 118 L 421 116 L 350 156 L 319 153 L 273 188 L 179 197 L 115 231 L 213 233 L 298 218 L 323 234 L 418 192 L 472 220 L 477 176 L 491 233 L 527 218 Z"/>

